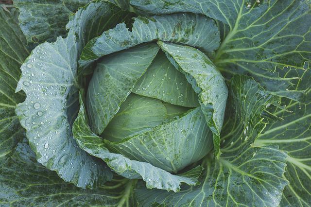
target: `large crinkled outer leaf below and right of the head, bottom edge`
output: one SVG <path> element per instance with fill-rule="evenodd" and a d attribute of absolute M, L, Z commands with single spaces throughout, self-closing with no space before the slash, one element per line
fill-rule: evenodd
<path fill-rule="evenodd" d="M 229 86 L 223 154 L 203 160 L 201 184 L 183 186 L 177 193 L 137 188 L 138 205 L 278 206 L 288 184 L 282 177 L 287 154 L 277 146 L 252 145 L 265 126 L 260 114 L 274 100 L 253 79 L 235 76 Z"/>

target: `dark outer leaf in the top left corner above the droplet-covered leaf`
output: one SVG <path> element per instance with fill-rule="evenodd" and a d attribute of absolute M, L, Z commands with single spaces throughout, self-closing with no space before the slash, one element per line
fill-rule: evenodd
<path fill-rule="evenodd" d="M 28 44 L 35 46 L 44 41 L 55 41 L 59 35 L 66 36 L 69 15 L 89 0 L 14 0 L 19 9 L 20 28 Z"/>

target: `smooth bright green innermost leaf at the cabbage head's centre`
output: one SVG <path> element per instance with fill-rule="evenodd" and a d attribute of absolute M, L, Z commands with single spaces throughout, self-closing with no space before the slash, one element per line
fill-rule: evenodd
<path fill-rule="evenodd" d="M 131 93 L 105 128 L 102 137 L 118 142 L 154 128 L 167 119 L 167 109 L 160 100 Z"/>

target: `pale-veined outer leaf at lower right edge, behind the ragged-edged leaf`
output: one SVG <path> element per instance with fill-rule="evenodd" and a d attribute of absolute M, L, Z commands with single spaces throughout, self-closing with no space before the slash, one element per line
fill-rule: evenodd
<path fill-rule="evenodd" d="M 300 76 L 302 79 L 292 89 L 310 85 L 310 71 L 304 71 Z M 285 107 L 274 108 L 270 113 L 282 120 L 270 121 L 255 145 L 277 144 L 288 152 L 284 178 L 290 184 L 283 191 L 280 206 L 308 207 L 311 205 L 311 102 L 300 104 L 283 98 L 280 104 Z"/>

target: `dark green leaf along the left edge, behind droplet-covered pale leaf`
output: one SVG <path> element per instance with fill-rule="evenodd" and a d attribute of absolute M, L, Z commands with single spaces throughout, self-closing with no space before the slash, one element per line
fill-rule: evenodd
<path fill-rule="evenodd" d="M 15 115 L 15 107 L 25 98 L 15 93 L 19 67 L 29 54 L 26 39 L 14 17 L 0 7 L 0 165 L 11 155 L 24 130 Z"/>

